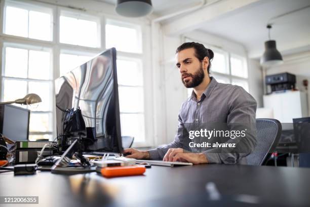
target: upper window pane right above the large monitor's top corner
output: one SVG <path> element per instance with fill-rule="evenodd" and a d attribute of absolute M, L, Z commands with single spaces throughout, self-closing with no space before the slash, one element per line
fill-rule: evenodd
<path fill-rule="evenodd" d="M 105 44 L 106 48 L 115 47 L 124 52 L 140 53 L 140 35 L 137 29 L 106 24 Z"/>

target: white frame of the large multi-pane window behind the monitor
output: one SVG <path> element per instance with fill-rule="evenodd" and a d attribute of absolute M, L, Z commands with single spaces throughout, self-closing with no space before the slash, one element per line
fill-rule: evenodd
<path fill-rule="evenodd" d="M 18 37 L 18 36 L 13 36 L 4 33 L 4 18 L 5 18 L 5 6 L 7 3 L 17 3 L 20 5 L 26 5 L 27 8 L 33 7 L 42 7 L 42 8 L 47 8 L 48 10 L 52 11 L 53 14 L 53 28 L 52 28 L 52 40 L 51 41 L 44 41 L 44 40 L 36 40 L 36 39 L 30 39 L 30 38 L 24 38 L 24 37 Z M 90 54 L 98 54 L 102 51 L 104 51 L 105 48 L 105 25 L 107 21 L 112 21 L 114 22 L 123 22 L 124 24 L 132 24 L 132 25 L 139 25 L 141 28 L 141 42 L 143 43 L 150 43 L 150 29 L 149 25 L 147 24 L 147 21 L 144 20 L 135 20 L 133 19 L 132 21 L 128 22 L 128 19 L 119 17 L 119 16 L 114 16 L 110 14 L 98 14 L 98 13 L 93 13 L 89 11 L 79 11 L 63 6 L 54 6 L 51 4 L 46 4 L 46 3 L 38 3 L 38 2 L 32 2 L 32 1 L 27 1 L 24 0 L 22 2 L 17 2 L 17 1 L 12 1 L 12 0 L 4 0 L 1 1 L 1 13 L 2 15 L 0 16 L 0 48 L 1 51 L 3 51 L 4 44 L 6 43 L 12 43 L 12 44 L 24 44 L 24 45 L 31 45 L 34 47 L 44 47 L 44 48 L 51 48 L 52 50 L 52 65 L 53 65 L 53 70 L 52 70 L 52 80 L 54 83 L 54 80 L 59 77 L 60 73 L 60 54 L 65 51 L 65 53 L 70 53 L 70 54 L 76 54 L 76 55 L 90 55 Z M 85 15 L 90 18 L 92 17 L 97 17 L 99 19 L 98 21 L 98 32 L 100 33 L 99 37 L 99 45 L 97 48 L 94 47 L 85 47 L 85 46 L 79 46 L 79 45 L 69 45 L 65 43 L 60 43 L 59 38 L 60 38 L 60 15 L 61 14 L 73 14 L 74 13 L 80 13 L 79 15 Z M 142 62 L 142 68 L 143 68 L 143 83 L 144 83 L 144 120 L 145 120 L 145 141 L 141 143 L 134 143 L 134 147 L 148 147 L 152 146 L 154 143 L 153 140 L 153 115 L 152 115 L 152 96 L 151 93 L 149 92 L 152 89 L 152 83 L 151 83 L 151 68 L 150 68 L 150 54 L 148 51 L 150 51 L 150 45 L 149 44 L 142 44 L 141 45 L 143 53 L 130 53 L 130 52 L 122 52 L 118 51 L 117 55 L 118 57 L 126 57 L 126 58 L 134 58 L 134 59 L 140 59 Z M 3 60 L 3 55 L 4 53 L 2 52 L 0 54 L 0 59 Z M 2 86 L 3 79 L 5 77 L 0 74 L 0 85 Z M 56 112 L 55 112 L 55 87 L 52 87 L 52 100 L 53 100 L 53 139 L 56 137 Z M 3 97 L 3 92 L 0 91 L 0 97 Z M 146 130 L 147 129 L 147 130 Z M 34 133 L 35 134 L 35 133 Z"/>

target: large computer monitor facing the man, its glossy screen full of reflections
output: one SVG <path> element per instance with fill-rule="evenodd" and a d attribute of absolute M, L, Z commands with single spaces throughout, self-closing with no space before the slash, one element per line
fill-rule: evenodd
<path fill-rule="evenodd" d="M 122 136 L 115 48 L 108 49 L 55 80 L 57 137 L 62 116 L 81 109 L 87 139 L 85 151 L 122 153 Z"/>

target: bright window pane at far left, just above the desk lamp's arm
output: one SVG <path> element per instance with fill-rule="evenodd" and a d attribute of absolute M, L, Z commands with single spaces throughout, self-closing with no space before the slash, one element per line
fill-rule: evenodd
<path fill-rule="evenodd" d="M 27 82 L 19 80 L 4 80 L 3 101 L 13 101 L 27 94 Z M 19 105 L 20 106 L 20 105 Z"/>

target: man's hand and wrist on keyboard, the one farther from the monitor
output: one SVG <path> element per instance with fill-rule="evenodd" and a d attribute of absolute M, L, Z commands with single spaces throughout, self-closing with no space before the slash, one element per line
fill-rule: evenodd
<path fill-rule="evenodd" d="M 208 163 L 203 153 L 190 153 L 182 148 L 170 148 L 163 161 L 170 162 L 191 162 L 193 164 Z"/>

